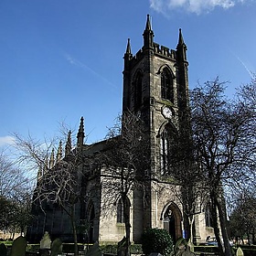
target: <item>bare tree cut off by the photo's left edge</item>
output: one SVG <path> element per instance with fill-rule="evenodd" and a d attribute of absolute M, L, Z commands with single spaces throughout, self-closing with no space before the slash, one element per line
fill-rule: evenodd
<path fill-rule="evenodd" d="M 0 229 L 24 232 L 30 220 L 32 187 L 24 171 L 0 153 Z M 26 199 L 25 199 L 26 198 Z M 21 214 L 22 209 L 24 210 Z"/>

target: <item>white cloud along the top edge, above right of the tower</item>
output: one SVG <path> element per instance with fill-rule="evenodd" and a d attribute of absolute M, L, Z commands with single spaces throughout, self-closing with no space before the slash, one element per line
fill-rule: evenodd
<path fill-rule="evenodd" d="M 243 3 L 246 0 L 150 0 L 150 7 L 160 13 L 166 13 L 167 10 L 183 9 L 187 12 L 200 14 L 208 12 L 219 6 L 228 9 Z"/>

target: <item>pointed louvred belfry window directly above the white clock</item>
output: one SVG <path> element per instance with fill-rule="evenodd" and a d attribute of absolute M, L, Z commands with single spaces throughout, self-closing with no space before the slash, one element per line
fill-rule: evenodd
<path fill-rule="evenodd" d="M 174 85 L 169 69 L 163 69 L 161 73 L 161 97 L 168 101 L 174 101 Z"/>

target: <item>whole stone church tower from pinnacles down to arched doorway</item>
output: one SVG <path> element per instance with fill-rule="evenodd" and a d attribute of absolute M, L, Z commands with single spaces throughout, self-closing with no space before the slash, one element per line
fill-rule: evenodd
<path fill-rule="evenodd" d="M 129 110 L 146 123 L 150 133 L 150 175 L 154 180 L 148 191 L 150 207 L 141 219 L 134 218 L 138 224 L 143 223 L 140 229 L 165 228 L 176 240 L 185 229 L 182 206 L 176 197 L 179 188 L 167 185 L 165 172 L 172 135 L 183 128 L 183 112 L 189 101 L 187 46 L 181 29 L 176 50 L 155 43 L 150 16 L 147 16 L 143 37 L 144 46 L 134 56 L 128 39 L 123 70 L 123 112 Z M 175 190 L 176 193 L 172 193 Z M 133 235 L 137 240 L 140 233 Z"/>

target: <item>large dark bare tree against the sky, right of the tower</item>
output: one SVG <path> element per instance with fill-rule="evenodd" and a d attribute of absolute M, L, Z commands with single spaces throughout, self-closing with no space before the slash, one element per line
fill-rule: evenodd
<path fill-rule="evenodd" d="M 227 99 L 224 91 L 225 83 L 217 78 L 198 85 L 190 97 L 196 159 L 204 172 L 219 252 L 228 256 L 231 251 L 223 187 L 234 182 L 239 186 L 253 176 L 250 166 L 255 161 L 255 113 L 245 101 Z"/>

